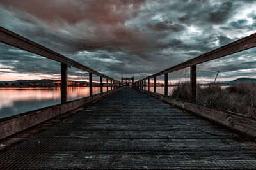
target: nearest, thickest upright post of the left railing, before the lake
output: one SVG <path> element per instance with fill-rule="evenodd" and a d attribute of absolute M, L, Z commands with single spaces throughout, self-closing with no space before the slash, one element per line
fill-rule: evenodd
<path fill-rule="evenodd" d="M 67 82 L 68 68 L 67 64 L 61 63 L 61 103 L 68 101 Z"/>

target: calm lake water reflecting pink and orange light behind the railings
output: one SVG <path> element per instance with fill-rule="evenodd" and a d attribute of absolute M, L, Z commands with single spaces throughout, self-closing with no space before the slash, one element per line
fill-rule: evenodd
<path fill-rule="evenodd" d="M 106 87 L 103 87 L 104 92 L 106 92 L 106 89 Z M 173 87 L 168 87 L 168 94 L 172 92 L 172 89 Z M 154 91 L 154 87 L 150 87 L 150 91 Z M 93 87 L 93 94 L 99 92 L 100 87 Z M 164 87 L 157 87 L 157 93 L 164 94 Z M 68 101 L 81 99 L 87 96 L 89 96 L 89 87 L 68 87 Z M 10 117 L 26 111 L 36 110 L 60 103 L 60 87 L 0 88 L 0 118 Z"/>

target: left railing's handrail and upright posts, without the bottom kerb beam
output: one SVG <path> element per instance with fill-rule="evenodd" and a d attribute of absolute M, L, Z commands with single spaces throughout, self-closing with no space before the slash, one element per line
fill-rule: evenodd
<path fill-rule="evenodd" d="M 120 81 L 110 78 L 104 74 L 101 74 L 90 67 L 84 66 L 83 64 L 76 62 L 75 60 L 69 59 L 60 53 L 54 52 L 45 46 L 39 45 L 29 39 L 20 36 L 19 34 L 15 34 L 8 29 L 4 29 L 0 27 L 0 42 L 15 46 L 22 50 L 26 50 L 31 53 L 35 53 L 42 57 L 46 57 L 51 60 L 56 60 L 61 63 L 61 103 L 67 102 L 67 69 L 68 67 L 76 67 L 77 69 L 81 69 L 83 71 L 87 71 L 89 73 L 89 85 L 90 85 L 90 96 L 92 93 L 92 74 L 100 76 L 100 92 L 103 92 L 102 87 L 117 87 L 120 86 Z M 106 83 L 102 83 L 102 78 L 106 78 Z M 110 80 L 110 83 L 108 81 Z M 112 89 L 112 88 L 111 88 Z"/>

